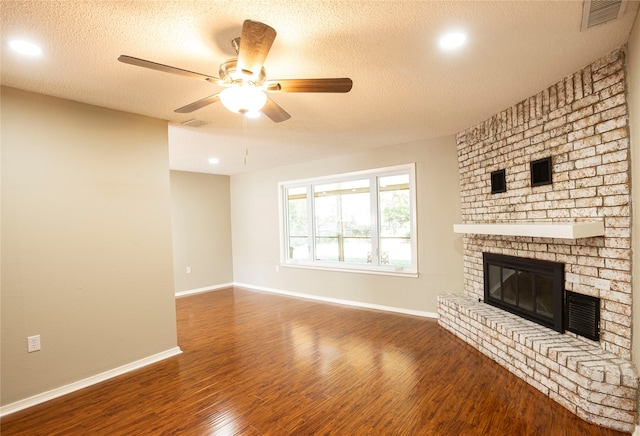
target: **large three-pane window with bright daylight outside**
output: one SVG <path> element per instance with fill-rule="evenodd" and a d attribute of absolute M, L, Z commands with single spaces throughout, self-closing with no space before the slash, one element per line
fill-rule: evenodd
<path fill-rule="evenodd" d="M 415 166 L 280 184 L 285 265 L 417 273 Z"/>

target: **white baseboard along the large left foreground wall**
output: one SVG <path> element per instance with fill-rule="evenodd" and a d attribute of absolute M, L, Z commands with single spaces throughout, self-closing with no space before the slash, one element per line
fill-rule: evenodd
<path fill-rule="evenodd" d="M 41 394 L 34 395 L 23 400 L 16 401 L 15 403 L 7 404 L 0 407 L 0 417 L 9 415 L 14 412 L 35 406 L 36 404 L 44 403 L 45 401 L 53 400 L 54 398 L 61 397 L 71 392 L 86 388 L 88 386 L 109 380 L 110 378 L 131 372 L 135 369 L 142 368 L 152 363 L 159 362 L 166 358 L 177 356 L 182 353 L 180 347 L 174 347 L 166 351 L 162 351 L 151 356 L 147 356 L 143 359 L 136 360 L 135 362 L 128 363 L 126 365 L 119 366 L 117 368 L 110 369 L 109 371 L 96 374 L 94 376 L 78 380 L 77 382 L 70 383 L 68 385 L 60 386 L 59 388 L 52 389 Z"/>

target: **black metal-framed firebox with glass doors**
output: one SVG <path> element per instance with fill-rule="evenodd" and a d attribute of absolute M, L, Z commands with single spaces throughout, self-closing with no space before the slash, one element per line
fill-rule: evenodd
<path fill-rule="evenodd" d="M 564 333 L 564 264 L 483 253 L 484 301 Z"/>

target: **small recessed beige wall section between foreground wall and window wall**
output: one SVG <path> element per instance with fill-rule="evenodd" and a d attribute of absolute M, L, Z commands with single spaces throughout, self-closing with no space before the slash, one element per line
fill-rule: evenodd
<path fill-rule="evenodd" d="M 232 283 L 229 176 L 171 171 L 171 216 L 176 293 Z"/>

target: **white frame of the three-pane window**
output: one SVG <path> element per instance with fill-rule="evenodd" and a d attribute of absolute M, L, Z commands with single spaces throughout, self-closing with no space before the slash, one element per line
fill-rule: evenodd
<path fill-rule="evenodd" d="M 385 265 L 380 264 L 379 258 L 379 214 L 378 211 L 378 198 L 379 189 L 377 181 L 380 177 L 408 174 L 409 175 L 409 198 L 411 205 L 410 213 L 410 229 L 411 229 L 411 265 L 401 267 L 397 265 Z M 372 263 L 359 264 L 359 263 L 344 263 L 344 262 L 332 262 L 315 260 L 315 229 L 314 229 L 314 195 L 313 186 L 347 182 L 350 180 L 361 180 L 363 178 L 369 178 L 375 183 L 370 185 L 371 187 L 371 241 L 372 241 Z M 416 218 L 416 175 L 415 175 L 415 163 L 397 165 L 385 168 L 376 168 L 365 171 L 357 171 L 344 174 L 334 174 L 330 176 L 315 177 L 312 179 L 293 180 L 280 182 L 278 184 L 279 190 L 279 211 L 280 211 L 280 265 L 285 267 L 297 267 L 297 268 L 311 268 L 311 269 L 324 269 L 324 270 L 338 270 L 349 271 L 358 273 L 369 274 L 385 274 L 396 275 L 404 277 L 417 277 L 418 276 L 418 234 L 417 234 L 417 218 Z M 309 238 L 309 257 L 307 259 L 290 259 L 288 255 L 289 246 L 289 233 L 288 233 L 288 201 L 287 201 L 287 189 L 306 187 L 307 190 L 307 235 Z"/>

